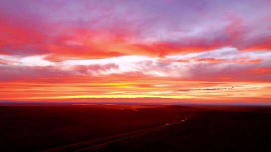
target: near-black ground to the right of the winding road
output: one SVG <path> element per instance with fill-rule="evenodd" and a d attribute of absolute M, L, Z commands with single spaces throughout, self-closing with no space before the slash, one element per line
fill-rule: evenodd
<path fill-rule="evenodd" d="M 270 151 L 270 128 L 269 113 L 205 111 L 184 124 L 100 151 Z"/>

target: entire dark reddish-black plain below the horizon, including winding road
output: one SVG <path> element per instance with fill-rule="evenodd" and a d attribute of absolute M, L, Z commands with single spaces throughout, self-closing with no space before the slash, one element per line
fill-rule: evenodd
<path fill-rule="evenodd" d="M 1 151 L 270 151 L 271 107 L 0 106 Z"/>

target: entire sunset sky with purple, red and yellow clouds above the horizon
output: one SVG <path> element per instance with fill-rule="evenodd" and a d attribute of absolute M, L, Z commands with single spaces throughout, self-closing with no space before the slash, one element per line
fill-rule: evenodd
<path fill-rule="evenodd" d="M 1 0 L 0 100 L 271 103 L 271 0 Z"/>

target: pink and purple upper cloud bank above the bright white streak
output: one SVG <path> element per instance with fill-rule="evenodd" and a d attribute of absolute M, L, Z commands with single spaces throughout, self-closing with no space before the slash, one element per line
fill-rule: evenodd
<path fill-rule="evenodd" d="M 271 49 L 266 0 L 260 7 L 254 7 L 260 2 L 253 0 L 60 3 L 3 0 L 0 53 L 50 54 L 47 59 L 59 61 L 133 54 L 163 57 L 227 46 Z M 254 15 L 247 19 L 247 12 Z"/>

